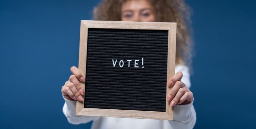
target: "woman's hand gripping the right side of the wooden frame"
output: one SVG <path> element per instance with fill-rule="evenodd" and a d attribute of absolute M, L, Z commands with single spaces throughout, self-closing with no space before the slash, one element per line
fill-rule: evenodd
<path fill-rule="evenodd" d="M 193 93 L 180 81 L 182 76 L 182 72 L 177 72 L 168 82 L 168 87 L 173 86 L 167 97 L 167 101 L 170 102 L 171 106 L 189 104 L 194 99 Z"/>

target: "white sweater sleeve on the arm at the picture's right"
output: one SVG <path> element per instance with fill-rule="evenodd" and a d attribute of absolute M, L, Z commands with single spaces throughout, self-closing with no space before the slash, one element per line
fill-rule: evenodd
<path fill-rule="evenodd" d="M 190 74 L 187 66 L 177 65 L 175 72 L 182 72 L 183 77 L 181 81 L 190 88 Z M 194 102 L 194 100 L 193 100 Z M 187 105 L 176 105 L 174 106 L 174 120 L 165 121 L 165 124 L 171 125 L 170 128 L 174 129 L 192 129 L 196 124 L 196 111 L 193 106 L 193 102 Z"/>

